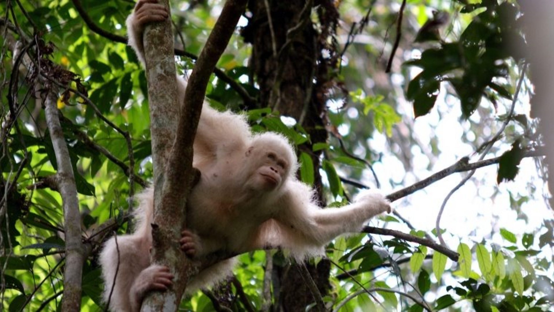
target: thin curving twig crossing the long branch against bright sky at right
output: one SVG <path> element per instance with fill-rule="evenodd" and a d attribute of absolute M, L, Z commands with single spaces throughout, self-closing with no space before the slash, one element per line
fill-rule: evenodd
<path fill-rule="evenodd" d="M 517 102 L 517 97 L 519 96 L 519 92 L 520 92 L 520 89 L 521 89 L 521 84 L 523 83 L 523 79 L 525 77 L 525 71 L 527 69 L 527 63 L 524 63 L 523 67 L 521 68 L 521 77 L 519 79 L 519 82 L 517 82 L 517 87 L 516 87 L 516 92 L 514 94 L 514 98 L 512 99 L 512 104 L 511 104 L 511 107 L 510 107 L 510 112 L 507 114 L 506 116 L 506 119 L 504 120 L 504 122 L 502 123 L 502 126 L 500 127 L 500 129 L 496 132 L 496 134 L 494 135 L 494 137 L 492 139 L 489 140 L 489 142 L 485 143 L 485 150 L 483 151 L 483 153 L 481 154 L 481 156 L 479 157 L 479 160 L 483 160 L 483 158 L 485 158 L 485 155 L 489 152 L 489 150 L 493 147 L 494 143 L 500 138 L 500 135 L 502 135 L 502 133 L 504 132 L 504 129 L 506 129 L 506 125 L 510 122 L 510 120 L 512 119 L 512 115 L 514 114 L 514 108 L 515 108 L 515 105 L 516 105 L 516 102 Z M 500 159 L 500 157 L 499 157 Z M 473 177 L 473 174 L 475 173 L 475 170 L 476 169 L 473 169 L 471 170 L 470 173 L 468 173 L 468 175 L 466 175 L 465 178 L 463 178 L 460 183 L 458 183 L 458 185 L 456 185 L 452 190 L 450 190 L 450 192 L 448 193 L 447 197 L 444 198 L 443 200 L 443 203 L 442 205 L 440 205 L 440 209 L 439 209 L 439 213 L 437 214 L 437 221 L 435 222 L 435 231 L 437 232 L 437 237 L 440 241 L 440 244 L 443 245 L 443 246 L 447 246 L 447 244 L 445 243 L 444 239 L 443 239 L 443 235 L 442 233 L 440 233 L 440 218 L 442 217 L 443 215 L 443 211 L 444 211 L 444 207 L 446 207 L 447 205 L 447 202 L 448 200 L 450 199 L 450 197 L 452 197 L 452 195 L 458 190 L 460 189 L 466 182 L 468 182 L 468 180 Z"/>

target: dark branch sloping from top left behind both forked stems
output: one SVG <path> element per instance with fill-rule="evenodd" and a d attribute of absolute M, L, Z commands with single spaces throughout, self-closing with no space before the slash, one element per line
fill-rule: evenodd
<path fill-rule="evenodd" d="M 75 9 L 77 10 L 77 12 L 79 12 L 79 15 L 81 16 L 81 18 L 83 18 L 86 26 L 88 26 L 91 31 L 102 37 L 110 39 L 111 41 L 127 44 L 127 38 L 111 33 L 109 31 L 105 31 L 104 29 L 96 25 L 94 21 L 90 18 L 89 14 L 86 13 L 86 10 L 85 8 L 83 8 L 83 4 L 81 4 L 80 0 L 71 0 L 71 2 L 73 2 Z M 174 49 L 173 53 L 175 53 L 176 56 L 188 57 L 193 61 L 196 61 L 198 59 L 198 56 L 196 56 L 195 54 L 177 48 Z M 213 73 L 216 75 L 217 78 L 221 79 L 223 82 L 227 83 L 229 87 L 235 90 L 235 92 L 237 92 L 240 97 L 242 97 L 245 104 L 253 105 L 256 103 L 256 99 L 250 97 L 248 91 L 244 89 L 242 85 L 237 83 L 233 78 L 225 74 L 225 72 L 223 72 L 219 68 L 213 68 Z"/>

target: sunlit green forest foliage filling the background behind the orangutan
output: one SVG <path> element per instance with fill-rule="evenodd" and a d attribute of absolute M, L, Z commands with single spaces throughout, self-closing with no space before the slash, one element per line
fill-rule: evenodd
<path fill-rule="evenodd" d="M 265 3 L 279 7 L 277 1 Z M 223 2 L 171 4 L 177 72 L 187 76 Z M 59 310 L 65 300 L 68 219 L 55 143 L 60 135 L 68 146 L 78 192 L 74 209 L 80 214 L 78 240 L 85 258 L 81 309 L 104 309 L 101 243 L 129 231 L 134 209 L 129 199 L 153 177 L 147 80 L 125 44 L 125 19 L 133 7 L 129 0 L 7 0 L 0 6 L 4 309 Z M 329 31 L 326 27 L 332 23 L 325 18 L 333 10 L 338 22 Z M 322 125 L 314 127 L 304 115 L 281 114 L 262 100 L 264 85 L 253 63 L 266 56 L 254 54 L 252 42 L 245 39 L 259 27 L 252 12 L 243 15 L 207 89 L 210 105 L 244 112 L 255 132 L 270 130 L 288 137 L 299 152 L 300 179 L 322 189 L 322 202 L 340 207 L 357 189 L 378 187 L 387 191 L 397 209 L 372 220 L 361 233 L 336 239 L 327 246 L 328 259 L 310 260 L 314 268 L 330 261 L 331 269 L 323 282 L 311 271 L 318 286 L 324 285 L 320 294 L 302 291 L 338 311 L 550 309 L 554 222 L 544 140 L 539 121 L 529 114 L 534 82 L 519 3 L 313 1 L 310 12 L 296 14 L 317 34 L 321 58 L 314 62 L 320 67 L 314 68 L 331 64 L 325 71 L 304 73 L 313 84 L 308 102 L 324 104 L 321 113 L 306 119 L 321 118 Z M 299 60 L 305 57 L 294 49 L 289 53 Z M 44 109 L 49 94 L 57 99 L 63 133 L 50 133 Z M 441 120 L 449 120 L 452 128 L 441 132 Z M 543 117 L 542 122 L 552 120 Z M 324 139 L 316 139 L 321 132 Z M 446 150 L 444 140 L 464 145 Z M 424 168 L 417 163 L 421 157 Z M 496 176 L 473 177 L 485 167 L 494 167 Z M 523 175 L 521 168 L 533 173 Z M 451 175 L 455 183 L 445 184 L 443 178 Z M 521 184 L 515 184 L 518 181 Z M 476 203 L 466 198 L 447 205 L 465 182 L 476 189 L 494 189 L 491 195 L 475 197 L 484 197 L 479 202 L 483 209 L 495 209 L 496 200 L 504 203 L 502 211 L 512 212 L 513 222 L 491 217 L 490 228 L 483 230 L 476 224 L 488 217 L 466 215 L 469 221 L 459 226 L 473 227 L 469 236 L 439 227 L 443 213 Z M 412 194 L 425 194 L 425 205 L 412 201 Z M 430 213 L 427 205 L 437 209 Z M 411 209 L 419 209 L 425 224 L 422 218 L 403 217 Z M 181 308 L 282 308 L 284 290 L 279 285 L 287 285 L 279 275 L 283 271 L 270 279 L 268 292 L 264 281 L 273 266 L 288 268 L 283 253 L 261 250 L 239 260 L 232 281 L 199 291 L 183 300 Z M 314 303 L 306 306 L 317 309 Z"/>

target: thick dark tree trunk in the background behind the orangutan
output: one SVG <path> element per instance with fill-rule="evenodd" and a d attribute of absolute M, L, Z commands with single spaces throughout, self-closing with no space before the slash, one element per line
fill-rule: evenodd
<path fill-rule="evenodd" d="M 260 86 L 261 107 L 271 107 L 282 115 L 295 118 L 310 134 L 311 142 L 302 144 L 299 150 L 311 155 L 314 187 L 320 204 L 324 205 L 318 170 L 320 152 L 312 152 L 312 144 L 327 139 L 324 114 L 326 86 L 331 79 L 327 66 L 336 59 L 334 49 L 331 49 L 328 59 L 323 59 L 321 52 L 323 48 L 329 49 L 324 42 L 327 36 L 334 34 L 338 13 L 330 1 L 315 4 L 319 5 L 318 17 L 322 23 L 319 32 L 311 20 L 314 5 L 311 1 L 250 1 L 252 18 L 243 36 L 253 45 L 252 69 Z M 317 265 L 306 263 L 306 267 L 321 295 L 327 294 L 330 289 L 329 261 L 324 259 Z M 279 278 L 274 283 L 279 285 L 280 290 L 275 291 L 280 292 L 276 296 L 279 296 L 281 309 L 301 311 L 314 303 L 314 296 L 301 278 L 297 265 L 290 268 L 275 265 L 274 270 L 274 275 Z"/>

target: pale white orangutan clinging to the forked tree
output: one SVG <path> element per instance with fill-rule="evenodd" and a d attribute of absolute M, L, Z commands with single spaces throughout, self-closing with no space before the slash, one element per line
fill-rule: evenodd
<path fill-rule="evenodd" d="M 147 23 L 168 18 L 156 0 L 140 0 L 127 18 L 129 44 L 144 61 L 142 31 Z M 186 81 L 178 77 L 178 100 Z M 283 248 L 303 260 L 324 255 L 336 236 L 357 232 L 370 218 L 391 208 L 382 194 L 364 192 L 342 208 L 320 209 L 311 187 L 295 177 L 297 160 L 288 140 L 275 133 L 253 134 L 242 115 L 218 112 L 204 104 L 194 140 L 193 166 L 201 172 L 189 195 L 181 249 L 202 260 L 214 251 L 240 254 L 263 248 Z M 166 290 L 173 276 L 166 266 L 150 263 L 153 189 L 137 195 L 140 206 L 133 234 L 106 242 L 100 256 L 110 309 L 138 311 L 148 291 Z M 116 266 L 119 259 L 119 271 Z M 229 275 L 233 260 L 225 260 L 189 279 L 187 293 Z"/>

